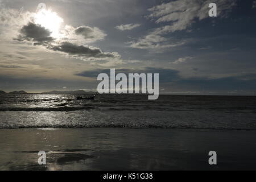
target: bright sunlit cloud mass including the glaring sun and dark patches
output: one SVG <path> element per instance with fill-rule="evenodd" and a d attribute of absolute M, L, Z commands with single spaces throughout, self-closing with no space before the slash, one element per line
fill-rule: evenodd
<path fill-rule="evenodd" d="M 64 20 L 54 11 L 40 9 L 37 13 L 13 9 L 0 9 L 0 32 L 3 39 L 13 42 L 32 43 L 49 51 L 59 52 L 84 61 L 119 59 L 117 52 L 103 52 L 88 43 L 103 40 L 104 31 L 97 27 L 65 26 Z"/>

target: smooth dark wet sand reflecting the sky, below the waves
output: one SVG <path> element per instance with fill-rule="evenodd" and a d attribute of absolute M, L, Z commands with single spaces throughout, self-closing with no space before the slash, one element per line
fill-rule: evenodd
<path fill-rule="evenodd" d="M 255 170 L 255 143 L 255 130 L 1 129 L 0 170 Z"/>

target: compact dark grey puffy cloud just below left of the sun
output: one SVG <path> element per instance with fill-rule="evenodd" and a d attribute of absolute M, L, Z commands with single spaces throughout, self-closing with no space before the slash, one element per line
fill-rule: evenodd
<path fill-rule="evenodd" d="M 53 41 L 51 37 L 51 32 L 46 28 L 35 23 L 28 23 L 23 26 L 20 30 L 20 35 L 18 36 L 19 41 L 28 40 L 34 42 L 34 45 L 42 45 L 44 43 L 49 43 Z"/>

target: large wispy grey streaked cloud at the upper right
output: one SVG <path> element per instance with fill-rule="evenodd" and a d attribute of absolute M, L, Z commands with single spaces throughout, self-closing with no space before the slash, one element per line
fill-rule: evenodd
<path fill-rule="evenodd" d="M 129 42 L 130 47 L 139 49 L 163 49 L 182 46 L 188 40 L 175 40 L 166 38 L 164 35 L 181 30 L 187 30 L 196 19 L 202 20 L 208 18 L 208 5 L 211 0 L 177 0 L 162 5 L 154 6 L 148 11 L 151 12 L 148 18 L 155 21 L 156 24 L 171 23 L 158 28 L 154 28 L 147 35 L 139 38 L 137 41 Z M 218 16 L 225 15 L 236 6 L 233 0 L 216 0 Z"/>

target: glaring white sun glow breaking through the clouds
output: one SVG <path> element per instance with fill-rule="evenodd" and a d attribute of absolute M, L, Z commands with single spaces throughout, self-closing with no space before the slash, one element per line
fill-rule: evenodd
<path fill-rule="evenodd" d="M 63 19 L 53 12 L 51 9 L 41 9 L 35 15 L 35 23 L 40 24 L 44 28 L 51 31 L 53 38 L 60 38 L 60 26 L 63 23 Z"/>

